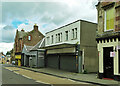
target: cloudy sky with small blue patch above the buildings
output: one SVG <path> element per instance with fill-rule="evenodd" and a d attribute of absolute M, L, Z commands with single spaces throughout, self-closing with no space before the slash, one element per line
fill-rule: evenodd
<path fill-rule="evenodd" d="M 2 0 L 0 52 L 13 48 L 16 30 L 31 31 L 36 23 L 45 34 L 78 19 L 97 23 L 97 0 Z"/>

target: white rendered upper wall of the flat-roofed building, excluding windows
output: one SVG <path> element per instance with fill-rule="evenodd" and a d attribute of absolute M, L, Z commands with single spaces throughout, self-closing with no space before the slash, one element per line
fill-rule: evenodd
<path fill-rule="evenodd" d="M 77 39 L 72 39 L 72 29 L 77 28 Z M 68 31 L 68 41 L 66 41 L 66 34 L 65 31 Z M 56 34 L 62 33 L 62 42 L 57 42 L 56 43 Z M 51 36 L 53 35 L 53 43 L 51 43 L 52 38 Z M 50 37 L 50 43 L 47 44 L 47 37 Z M 58 45 L 62 43 L 69 43 L 69 44 L 80 44 L 80 21 L 74 22 L 70 25 L 64 26 L 60 29 L 56 29 L 54 31 L 51 31 L 49 33 L 46 33 L 45 36 L 45 46 L 51 46 L 51 45 Z"/>

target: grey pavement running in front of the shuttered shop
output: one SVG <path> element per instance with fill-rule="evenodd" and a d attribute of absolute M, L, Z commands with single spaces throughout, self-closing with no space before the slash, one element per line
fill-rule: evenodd
<path fill-rule="evenodd" d="M 98 79 L 97 74 L 79 74 L 79 73 L 67 72 L 52 68 L 29 68 L 24 66 L 21 66 L 19 68 L 34 72 L 39 72 L 47 75 L 52 75 L 56 77 L 67 78 L 74 81 L 96 84 L 100 86 L 120 86 L 120 82 L 115 80 Z"/>

